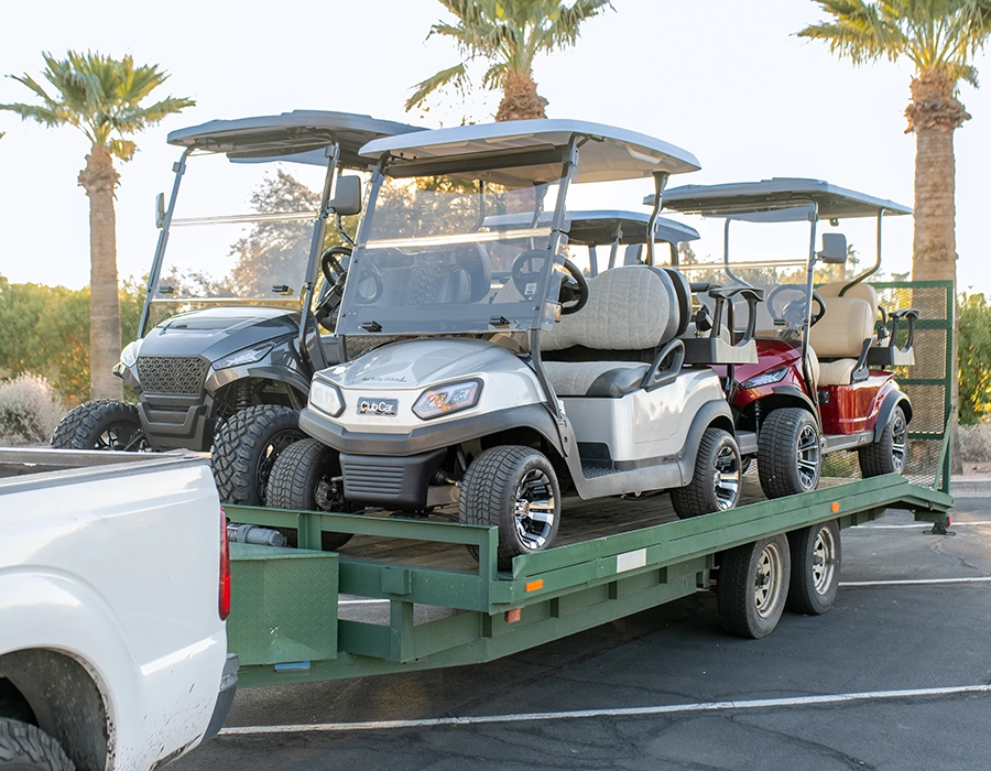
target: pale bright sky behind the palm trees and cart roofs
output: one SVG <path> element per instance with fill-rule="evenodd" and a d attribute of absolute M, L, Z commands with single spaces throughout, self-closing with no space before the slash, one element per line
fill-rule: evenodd
<path fill-rule="evenodd" d="M 616 11 L 588 21 L 577 46 L 537 59 L 534 77 L 548 117 L 609 123 L 677 144 L 703 170 L 672 180 L 709 184 L 806 176 L 913 204 L 915 138 L 905 134 L 912 67 L 879 63 L 854 69 L 826 45 L 795 37 L 818 21 L 810 0 L 613 0 Z M 124 10 L 126 9 L 126 10 Z M 305 9 L 305 12 L 304 12 Z M 405 113 L 411 87 L 457 62 L 447 41 L 425 42 L 443 8 L 435 0 L 175 0 L 132 2 L 106 13 L 67 0 L 4 9 L 0 74 L 40 79 L 42 51 L 130 53 L 172 77 L 153 96 L 188 96 L 197 106 L 139 135 L 140 152 L 121 164 L 118 265 L 121 278 L 148 271 L 157 231 L 154 197 L 172 185 L 179 151 L 170 130 L 217 118 L 293 109 L 361 112 L 427 127 L 491 120 L 498 96 L 435 102 Z M 991 78 L 991 56 L 976 62 Z M 0 104 L 30 101 L 0 78 Z M 956 132 L 957 268 L 961 290 L 991 293 L 984 218 L 991 180 L 991 86 L 961 87 L 973 120 Z M 76 177 L 88 151 L 75 129 L 45 129 L 0 111 L 0 274 L 12 282 L 89 281 L 88 199 Z M 577 191 L 575 191 L 577 193 Z M 573 208 L 640 209 L 651 182 L 581 191 Z M 873 235 L 845 228 L 863 259 Z M 711 234 L 711 238 L 710 238 Z M 719 253 L 707 229 L 700 253 Z M 806 245 L 799 238 L 798 248 Z M 887 273 L 911 265 L 912 222 L 885 225 Z"/>

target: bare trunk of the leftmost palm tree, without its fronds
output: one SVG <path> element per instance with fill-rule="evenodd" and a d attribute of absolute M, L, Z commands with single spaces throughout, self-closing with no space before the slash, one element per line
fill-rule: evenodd
<path fill-rule="evenodd" d="M 94 144 L 79 184 L 89 196 L 89 393 L 91 399 L 121 399 L 112 372 L 120 357 L 120 301 L 117 294 L 117 219 L 113 189 L 120 174 L 107 148 Z"/>

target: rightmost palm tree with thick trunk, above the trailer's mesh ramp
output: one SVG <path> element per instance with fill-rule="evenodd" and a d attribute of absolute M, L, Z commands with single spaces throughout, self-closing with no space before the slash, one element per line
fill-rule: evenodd
<path fill-rule="evenodd" d="M 826 41 L 854 65 L 902 57 L 915 65 L 906 133 L 916 135 L 915 280 L 956 279 L 954 131 L 970 116 L 960 80 L 977 86 L 971 63 L 991 34 L 991 0 L 817 0 L 832 17 L 799 37 Z"/>

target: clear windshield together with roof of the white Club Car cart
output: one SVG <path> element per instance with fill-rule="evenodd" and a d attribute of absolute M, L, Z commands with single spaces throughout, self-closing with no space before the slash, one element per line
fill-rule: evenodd
<path fill-rule="evenodd" d="M 549 329 L 571 183 L 694 171 L 660 140 L 579 121 L 467 126 L 370 143 L 378 159 L 338 334 Z"/>

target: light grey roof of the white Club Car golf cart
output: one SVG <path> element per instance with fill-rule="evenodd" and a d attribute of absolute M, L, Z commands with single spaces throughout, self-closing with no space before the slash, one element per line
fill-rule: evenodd
<path fill-rule="evenodd" d="M 560 152 L 576 135 L 587 138 L 578 151 L 578 182 L 700 167 L 695 155 L 660 139 L 579 120 L 518 120 L 384 137 L 363 146 L 361 155 L 391 156 L 391 176 L 471 172 L 473 178 L 520 185 L 560 178 Z"/>

